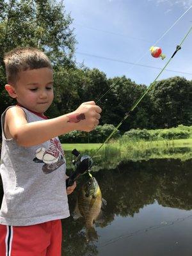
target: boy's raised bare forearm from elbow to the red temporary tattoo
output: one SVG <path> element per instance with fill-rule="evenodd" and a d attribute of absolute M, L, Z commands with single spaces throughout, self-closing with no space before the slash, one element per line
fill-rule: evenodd
<path fill-rule="evenodd" d="M 20 146 L 31 147 L 75 129 L 76 123 L 68 122 L 67 115 L 63 115 L 21 125 L 15 140 Z"/>

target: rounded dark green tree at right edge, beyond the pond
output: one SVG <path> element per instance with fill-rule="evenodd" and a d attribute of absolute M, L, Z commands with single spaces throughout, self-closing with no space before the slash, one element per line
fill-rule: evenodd
<path fill-rule="evenodd" d="M 158 128 L 192 124 L 192 83 L 184 77 L 171 77 L 150 91 L 154 102 L 152 118 Z"/>

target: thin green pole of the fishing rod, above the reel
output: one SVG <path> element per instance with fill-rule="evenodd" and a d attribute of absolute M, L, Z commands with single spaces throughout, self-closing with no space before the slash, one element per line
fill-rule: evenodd
<path fill-rule="evenodd" d="M 94 157 L 97 152 L 100 150 L 100 148 L 102 148 L 102 146 L 111 138 L 111 136 L 113 136 L 113 134 L 118 130 L 118 127 L 120 127 L 120 125 L 122 125 L 122 123 L 127 119 L 127 117 L 130 115 L 130 113 L 136 108 L 136 106 L 138 106 L 138 104 L 141 102 L 141 100 L 143 99 L 143 97 L 145 97 L 145 95 L 148 93 L 148 91 L 154 86 L 154 84 L 156 83 L 157 79 L 159 78 L 159 76 L 161 76 L 161 74 L 163 73 L 164 69 L 167 67 L 167 65 L 170 63 L 170 61 L 173 59 L 173 56 L 175 56 L 175 54 L 177 53 L 177 51 L 179 51 L 181 49 L 181 45 L 183 44 L 184 40 L 186 40 L 186 38 L 188 37 L 189 33 L 192 30 L 192 26 L 189 29 L 188 33 L 186 33 L 186 35 L 184 36 L 184 38 L 182 39 L 182 41 L 180 42 L 179 45 L 177 45 L 177 48 L 175 50 L 175 52 L 173 52 L 171 58 L 167 61 L 166 65 L 164 65 L 164 67 L 162 68 L 161 72 L 159 72 L 159 74 L 157 75 L 156 79 L 154 79 L 154 81 L 150 84 L 150 86 L 148 86 L 148 88 L 145 90 L 145 92 L 143 92 L 143 94 L 141 95 L 141 97 L 136 100 L 136 102 L 132 105 L 131 109 L 129 109 L 129 111 L 127 113 L 125 113 L 124 118 L 122 119 L 122 121 L 115 127 L 115 129 L 111 132 L 111 134 L 109 134 L 108 138 L 106 138 L 106 140 L 104 141 L 104 143 L 102 143 L 102 145 L 100 145 L 100 147 L 96 150 L 95 154 L 92 156 Z"/>

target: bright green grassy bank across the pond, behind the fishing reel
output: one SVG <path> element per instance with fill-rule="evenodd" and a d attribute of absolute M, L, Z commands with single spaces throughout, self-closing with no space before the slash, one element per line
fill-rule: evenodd
<path fill-rule="evenodd" d="M 81 154 L 89 154 L 93 157 L 93 171 L 101 168 L 116 168 L 122 161 L 140 161 L 148 159 L 173 158 L 186 161 L 192 158 L 192 138 L 183 140 L 159 140 L 159 141 L 125 141 L 115 140 L 107 143 L 95 155 L 95 150 L 101 143 L 62 144 L 68 168 L 72 166 L 71 151 L 76 148 Z"/>

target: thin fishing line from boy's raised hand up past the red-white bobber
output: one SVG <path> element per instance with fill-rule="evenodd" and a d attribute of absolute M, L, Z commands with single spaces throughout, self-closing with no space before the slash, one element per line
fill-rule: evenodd
<path fill-rule="evenodd" d="M 188 8 L 188 10 L 186 10 L 186 12 L 184 12 L 174 23 L 173 23 L 173 25 L 172 26 L 170 26 L 170 28 L 167 30 L 167 31 L 165 31 L 164 33 L 163 33 L 163 35 L 153 44 L 154 46 L 177 24 L 177 22 L 179 22 L 179 20 L 180 19 L 182 19 L 182 17 L 184 17 L 184 15 L 187 13 L 187 12 L 189 12 L 189 10 L 192 8 L 192 5 Z M 128 70 L 127 70 L 127 72 L 128 71 L 131 71 L 132 70 L 132 68 L 134 68 L 134 66 L 136 65 L 136 64 L 138 64 L 146 55 L 148 54 L 148 51 L 146 51 L 144 54 L 143 54 L 143 56 L 141 56 L 141 58 L 138 60 L 138 61 L 136 61 L 135 63 L 133 63 L 132 64 L 132 67 L 131 68 L 129 68 Z M 106 92 L 106 93 L 104 93 L 95 103 L 97 104 L 112 88 L 114 88 L 114 86 L 117 84 L 117 83 L 119 83 L 120 81 L 121 81 L 121 79 L 122 78 L 120 78 L 120 79 L 118 79 L 114 84 L 112 84 L 112 86 L 109 88 L 109 90 Z"/>

